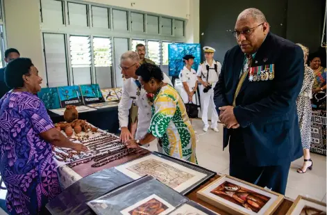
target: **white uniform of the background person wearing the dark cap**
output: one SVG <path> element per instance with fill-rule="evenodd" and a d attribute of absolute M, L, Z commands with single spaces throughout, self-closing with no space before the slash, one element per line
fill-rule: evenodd
<path fill-rule="evenodd" d="M 179 79 L 181 80 L 181 82 L 187 82 L 187 86 L 190 90 L 190 92 L 192 92 L 195 88 L 196 85 L 196 81 L 198 80 L 198 78 L 196 77 L 196 72 L 195 70 L 193 70 L 191 68 L 191 71 L 187 69 L 187 67 L 183 67 L 183 70 L 181 70 L 181 72 L 179 73 Z M 181 89 L 181 97 L 183 99 L 183 102 L 185 104 L 189 103 L 189 99 L 188 99 L 188 94 L 184 88 L 184 86 L 182 86 Z M 196 98 L 195 98 L 195 93 L 192 97 L 192 103 L 196 104 Z"/>

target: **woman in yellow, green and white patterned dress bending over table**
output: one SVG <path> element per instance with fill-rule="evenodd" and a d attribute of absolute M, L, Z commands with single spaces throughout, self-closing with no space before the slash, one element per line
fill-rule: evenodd
<path fill-rule="evenodd" d="M 135 74 L 149 94 L 152 118 L 148 134 L 141 140 L 129 141 L 127 147 L 136 148 L 160 138 L 165 154 L 197 164 L 196 137 L 181 96 L 162 82 L 162 71 L 156 65 L 143 64 Z"/>

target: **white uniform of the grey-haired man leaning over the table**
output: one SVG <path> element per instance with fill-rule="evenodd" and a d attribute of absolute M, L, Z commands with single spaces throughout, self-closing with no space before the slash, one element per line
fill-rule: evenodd
<path fill-rule="evenodd" d="M 163 73 L 163 72 L 162 72 Z M 165 73 L 163 73 L 164 83 L 169 83 L 171 86 L 171 80 Z M 146 91 L 141 88 L 140 96 L 136 95 L 137 85 L 135 79 L 126 79 L 123 84 L 121 100 L 118 105 L 118 118 L 120 127 L 128 127 L 128 116 L 129 109 L 131 109 L 133 100 L 135 104 L 139 107 L 137 114 L 137 130 L 135 134 L 135 139 L 139 140 L 144 138 L 146 135 L 151 121 L 151 105 L 148 103 L 148 98 L 146 97 Z M 135 97 L 136 99 L 132 99 Z"/>

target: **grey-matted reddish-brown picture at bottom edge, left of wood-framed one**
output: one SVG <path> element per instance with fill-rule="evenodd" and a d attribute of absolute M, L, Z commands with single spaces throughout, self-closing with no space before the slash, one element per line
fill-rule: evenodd
<path fill-rule="evenodd" d="M 165 215 L 187 201 L 185 196 L 148 175 L 87 202 L 87 205 L 98 215 Z"/>

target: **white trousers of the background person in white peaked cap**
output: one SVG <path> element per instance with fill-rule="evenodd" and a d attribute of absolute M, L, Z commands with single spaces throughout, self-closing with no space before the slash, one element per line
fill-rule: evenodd
<path fill-rule="evenodd" d="M 203 93 L 203 86 L 199 88 L 200 93 L 201 93 L 201 111 L 202 111 L 202 121 L 204 127 L 209 127 L 208 123 L 208 109 L 212 109 L 211 111 L 211 128 L 214 129 L 215 127 L 218 126 L 218 113 L 216 110 L 215 102 L 213 101 L 213 96 L 214 96 L 214 84 L 212 84 L 212 88 L 208 91 L 208 93 Z"/>

